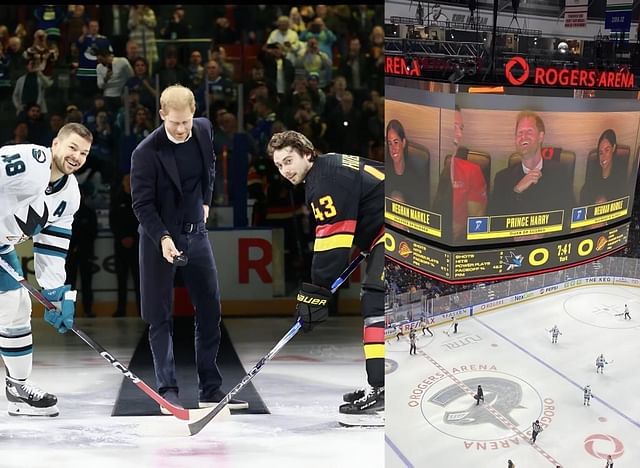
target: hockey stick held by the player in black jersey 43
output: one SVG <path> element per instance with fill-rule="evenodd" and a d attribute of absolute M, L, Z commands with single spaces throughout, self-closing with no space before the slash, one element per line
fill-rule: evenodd
<path fill-rule="evenodd" d="M 367 255 L 368 255 L 367 253 L 360 252 L 360 254 L 358 254 L 358 256 L 353 259 L 353 261 L 349 264 L 349 266 L 342 272 L 342 274 L 338 278 L 336 278 L 336 280 L 331 285 L 331 293 L 332 294 L 334 292 L 336 292 L 336 290 L 340 286 L 342 286 L 342 283 L 344 283 L 347 280 L 347 278 L 351 275 L 351 273 L 353 273 L 354 270 L 356 268 L 358 268 L 358 265 L 360 265 L 362 260 L 364 260 Z M 258 363 L 253 367 L 253 369 L 251 369 L 247 373 L 247 375 L 245 375 L 242 378 L 242 380 L 240 381 L 240 383 L 238 383 L 238 385 L 233 387 L 229 391 L 229 393 L 227 393 L 227 395 L 222 399 L 222 401 L 220 401 L 220 403 L 218 403 L 215 406 L 215 408 L 213 408 L 211 410 L 211 412 L 209 414 L 207 414 L 206 416 L 204 416 L 202 419 L 200 419 L 198 421 L 194 421 L 192 423 L 189 423 L 189 432 L 190 432 L 190 434 L 191 435 L 196 435 L 198 432 L 200 432 L 209 423 L 209 421 L 211 421 L 213 418 L 215 418 L 216 415 L 218 415 L 218 413 L 220 413 L 224 408 L 226 408 L 227 404 L 229 403 L 229 400 L 231 400 L 231 398 L 236 393 L 238 393 L 240 390 L 242 390 L 251 381 L 251 379 L 253 379 L 256 376 L 256 374 L 258 374 L 258 372 L 260 372 L 262 367 L 267 362 L 269 362 L 271 359 L 273 359 L 273 357 L 284 347 L 284 345 L 286 345 L 291 340 L 291 338 L 293 338 L 296 335 L 296 333 L 298 333 L 300 328 L 302 328 L 302 323 L 300 322 L 300 319 L 298 318 L 298 320 L 296 320 L 296 323 L 293 324 L 293 326 L 287 332 L 287 334 L 284 335 L 282 337 L 282 339 L 280 341 L 278 341 L 278 343 L 273 348 L 271 348 L 271 351 L 269 351 L 262 359 L 260 359 L 258 361 Z"/>

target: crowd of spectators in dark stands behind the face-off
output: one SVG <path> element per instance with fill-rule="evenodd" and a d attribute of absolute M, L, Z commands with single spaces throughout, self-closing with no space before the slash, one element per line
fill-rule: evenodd
<path fill-rule="evenodd" d="M 92 219 L 78 223 L 120 231 L 108 214 L 127 200 L 131 152 L 159 124 L 162 89 L 188 86 L 196 116 L 214 127 L 213 202 L 253 198 L 251 222 L 285 228 L 286 271 L 299 277 L 312 221 L 301 188 L 266 161 L 266 144 L 292 129 L 320 152 L 382 161 L 382 24 L 383 5 L 5 6 L 0 142 L 49 146 L 64 123 L 85 124 L 94 143 L 77 175 L 88 208 L 79 218 Z"/>

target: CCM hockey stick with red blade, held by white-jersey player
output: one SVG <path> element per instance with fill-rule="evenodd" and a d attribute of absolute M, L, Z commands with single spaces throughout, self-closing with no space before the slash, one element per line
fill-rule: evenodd
<path fill-rule="evenodd" d="M 33 296 L 40 304 L 45 306 L 49 310 L 57 310 L 57 307 L 51 303 L 46 297 L 42 295 L 40 291 L 38 291 L 33 285 L 31 285 L 26 279 L 18 274 L 11 265 L 9 265 L 2 257 L 0 257 L 0 266 L 7 272 L 13 279 L 15 279 L 20 285 L 29 291 L 29 294 Z M 179 406 L 174 406 L 169 403 L 167 400 L 162 398 L 155 390 L 149 387 L 146 383 L 144 383 L 138 376 L 136 376 L 133 372 L 127 369 L 123 364 L 121 364 L 116 358 L 114 358 L 111 353 L 109 353 L 106 349 L 104 349 L 100 344 L 98 344 L 93 338 L 87 335 L 82 330 L 77 329 L 75 326 L 71 327 L 71 331 L 78 335 L 82 341 L 87 343 L 89 347 L 91 347 L 94 351 L 96 351 L 100 356 L 105 358 L 109 364 L 118 369 L 122 374 L 128 378 L 131 382 L 133 382 L 140 390 L 146 393 L 149 397 L 156 401 L 159 405 L 164 406 L 171 414 L 173 414 L 176 418 L 181 419 L 183 421 L 193 421 L 201 418 L 203 414 L 206 414 L 205 411 L 199 410 L 189 410 L 185 408 L 180 408 Z"/>

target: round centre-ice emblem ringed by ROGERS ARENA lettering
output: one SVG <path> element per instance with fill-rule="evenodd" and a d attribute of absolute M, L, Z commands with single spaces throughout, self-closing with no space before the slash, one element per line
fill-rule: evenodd
<path fill-rule="evenodd" d="M 525 442 L 516 429 L 530 435 L 531 421 L 539 419 L 546 428 L 555 416 L 553 399 L 543 399 L 531 384 L 500 372 L 493 365 L 459 366 L 449 372 L 456 381 L 443 372 L 436 372 L 415 386 L 407 404 L 419 409 L 437 431 L 463 440 L 467 450 L 519 446 Z M 469 391 L 475 393 L 478 385 L 484 390 L 484 403 L 480 405 L 476 405 L 469 394 Z M 495 412 L 503 420 L 498 419 Z M 485 437 L 479 439 L 478 434 Z"/>

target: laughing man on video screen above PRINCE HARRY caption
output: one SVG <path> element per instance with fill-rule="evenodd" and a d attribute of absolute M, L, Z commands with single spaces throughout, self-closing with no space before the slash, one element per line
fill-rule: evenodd
<path fill-rule="evenodd" d="M 544 133 L 544 122 L 538 114 L 530 111 L 518 114 L 516 150 L 522 162 L 496 174 L 491 214 L 535 213 L 573 206 L 573 187 L 564 166 L 542 157 Z"/>

